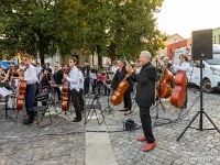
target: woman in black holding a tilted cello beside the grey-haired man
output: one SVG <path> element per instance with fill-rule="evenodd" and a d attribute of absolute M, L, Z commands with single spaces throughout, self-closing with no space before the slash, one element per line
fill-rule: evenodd
<path fill-rule="evenodd" d="M 119 84 L 124 79 L 125 75 L 128 74 L 127 69 L 125 69 L 125 62 L 122 61 L 122 59 L 118 59 L 117 61 L 117 64 L 118 64 L 118 69 L 113 76 L 113 79 L 111 81 L 111 88 L 113 90 L 117 90 Z M 132 103 L 131 103 L 131 92 L 133 91 L 133 81 L 130 77 L 128 77 L 125 79 L 128 82 L 129 82 L 129 89 L 124 92 L 124 97 L 123 97 L 123 101 L 124 101 L 124 108 L 120 111 L 127 111 L 124 113 L 124 116 L 129 116 L 132 113 L 131 111 L 131 107 L 132 107 Z"/>

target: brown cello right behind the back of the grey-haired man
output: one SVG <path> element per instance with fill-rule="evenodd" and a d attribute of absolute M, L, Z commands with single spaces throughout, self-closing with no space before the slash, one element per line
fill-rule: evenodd
<path fill-rule="evenodd" d="M 172 95 L 170 82 L 174 79 L 174 75 L 169 72 L 168 68 L 164 70 L 164 77 L 160 80 L 158 86 L 156 87 L 156 95 L 160 98 L 168 98 Z"/>

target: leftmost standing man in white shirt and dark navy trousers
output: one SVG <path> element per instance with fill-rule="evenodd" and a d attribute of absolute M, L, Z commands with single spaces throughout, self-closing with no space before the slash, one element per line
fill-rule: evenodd
<path fill-rule="evenodd" d="M 35 101 L 35 92 L 36 92 L 36 68 L 31 64 L 31 56 L 29 54 L 23 55 L 23 62 L 25 65 L 24 68 L 24 77 L 19 77 L 20 80 L 26 81 L 26 91 L 25 91 L 25 108 L 29 118 L 22 121 L 23 124 L 31 124 L 34 120 L 34 111 L 33 106 Z"/>

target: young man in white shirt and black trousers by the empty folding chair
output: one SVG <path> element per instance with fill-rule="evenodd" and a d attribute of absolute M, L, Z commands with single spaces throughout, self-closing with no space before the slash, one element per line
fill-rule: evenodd
<path fill-rule="evenodd" d="M 69 58 L 70 73 L 64 74 L 64 78 L 69 81 L 69 89 L 72 92 L 72 100 L 76 112 L 76 119 L 73 122 L 81 121 L 81 111 L 79 106 L 79 72 L 76 67 L 77 58 Z"/>

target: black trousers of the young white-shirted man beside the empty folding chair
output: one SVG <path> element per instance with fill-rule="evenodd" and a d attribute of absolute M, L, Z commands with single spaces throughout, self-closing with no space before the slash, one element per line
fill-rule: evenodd
<path fill-rule="evenodd" d="M 79 91 L 77 91 L 76 89 L 72 89 L 72 101 L 74 102 L 76 119 L 81 120 L 81 110 L 79 106 Z"/>

